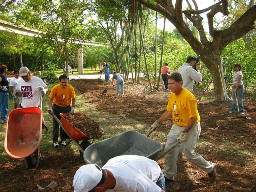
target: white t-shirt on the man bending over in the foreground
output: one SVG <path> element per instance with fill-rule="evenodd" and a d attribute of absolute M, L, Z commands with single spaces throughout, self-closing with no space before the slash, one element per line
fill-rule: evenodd
<path fill-rule="evenodd" d="M 114 157 L 102 167 L 116 179 L 114 189 L 107 192 L 161 192 L 155 183 L 161 169 L 156 161 L 143 156 L 124 155 Z"/>

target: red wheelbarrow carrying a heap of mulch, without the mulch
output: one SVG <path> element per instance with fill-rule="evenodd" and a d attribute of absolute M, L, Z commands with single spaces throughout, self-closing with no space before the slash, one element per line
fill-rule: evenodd
<path fill-rule="evenodd" d="M 63 115 L 68 113 L 60 113 L 60 119 L 61 121 L 52 114 L 52 117 L 57 121 L 57 123 L 62 127 L 62 129 L 67 133 L 68 139 L 70 141 L 64 146 L 66 147 L 71 141 L 73 141 L 76 146 L 79 148 L 79 154 L 81 158 L 84 160 L 84 150 L 93 143 L 94 139 L 92 140 L 92 143 L 89 142 L 90 137 L 85 135 L 83 132 L 81 132 L 79 129 L 77 129 L 73 124 L 71 124 Z M 82 114 L 82 113 L 76 113 L 76 114 Z M 79 141 L 82 141 L 79 143 Z"/>

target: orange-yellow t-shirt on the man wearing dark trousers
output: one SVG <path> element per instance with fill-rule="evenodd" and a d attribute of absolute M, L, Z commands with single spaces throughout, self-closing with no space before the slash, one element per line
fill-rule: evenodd
<path fill-rule="evenodd" d="M 67 107 L 71 103 L 71 98 L 76 98 L 76 93 L 71 85 L 67 84 L 67 87 L 62 89 L 60 84 L 58 84 L 52 88 L 50 98 L 53 99 L 55 105 Z"/>

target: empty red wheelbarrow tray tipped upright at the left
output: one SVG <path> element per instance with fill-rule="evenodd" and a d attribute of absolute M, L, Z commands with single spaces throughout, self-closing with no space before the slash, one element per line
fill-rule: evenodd
<path fill-rule="evenodd" d="M 32 155 L 42 139 L 42 110 L 39 107 L 17 108 L 8 117 L 4 150 L 13 159 Z"/>

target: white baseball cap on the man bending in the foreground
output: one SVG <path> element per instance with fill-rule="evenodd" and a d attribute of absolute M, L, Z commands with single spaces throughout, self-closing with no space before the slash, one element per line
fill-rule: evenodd
<path fill-rule="evenodd" d="M 102 170 L 95 164 L 87 164 L 80 167 L 74 176 L 73 186 L 75 192 L 88 192 L 95 188 L 102 177 Z"/>

